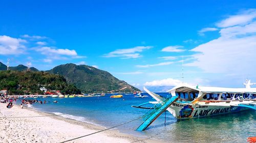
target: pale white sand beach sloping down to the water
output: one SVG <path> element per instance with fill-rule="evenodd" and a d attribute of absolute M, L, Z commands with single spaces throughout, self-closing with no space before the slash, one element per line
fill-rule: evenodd
<path fill-rule="evenodd" d="M 14 105 L 0 103 L 0 142 L 62 142 L 104 129 L 88 123 L 66 119 Z M 47 117 L 35 117 L 47 116 Z M 15 118 L 30 117 L 30 118 Z M 33 118 L 31 118 L 33 117 Z M 69 142 L 158 142 L 108 130 Z M 159 141 L 160 142 L 160 141 Z"/>

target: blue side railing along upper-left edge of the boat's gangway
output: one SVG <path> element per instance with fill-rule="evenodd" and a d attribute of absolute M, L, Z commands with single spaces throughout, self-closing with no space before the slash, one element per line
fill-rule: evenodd
<path fill-rule="evenodd" d="M 148 109 L 146 113 L 142 116 L 143 122 L 145 122 L 149 117 L 153 115 L 156 111 L 158 111 L 161 106 L 166 103 L 169 100 L 169 98 L 162 98 L 161 100 L 158 101 L 159 104 L 155 104 L 153 107 Z"/>

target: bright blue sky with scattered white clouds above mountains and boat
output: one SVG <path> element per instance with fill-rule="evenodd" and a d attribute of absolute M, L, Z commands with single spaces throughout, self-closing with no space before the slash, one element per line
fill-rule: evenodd
<path fill-rule="evenodd" d="M 1 1 L 0 62 L 39 70 L 86 64 L 138 88 L 242 87 L 256 81 L 254 8 L 255 1 Z"/>

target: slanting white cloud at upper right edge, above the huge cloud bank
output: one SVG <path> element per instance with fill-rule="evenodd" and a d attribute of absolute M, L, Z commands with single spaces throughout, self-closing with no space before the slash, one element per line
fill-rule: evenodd
<path fill-rule="evenodd" d="M 231 15 L 228 18 L 218 22 L 216 25 L 222 28 L 234 25 L 244 25 L 251 22 L 254 18 L 256 18 L 256 9 L 249 9 L 247 11 L 242 11 L 237 15 Z"/>

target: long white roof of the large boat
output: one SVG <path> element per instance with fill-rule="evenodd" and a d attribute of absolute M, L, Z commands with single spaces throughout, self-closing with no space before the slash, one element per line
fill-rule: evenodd
<path fill-rule="evenodd" d="M 178 85 L 167 92 L 202 92 L 202 93 L 256 93 L 256 88 L 221 88 L 221 87 L 201 87 L 187 84 Z"/>

